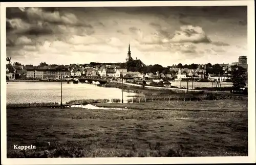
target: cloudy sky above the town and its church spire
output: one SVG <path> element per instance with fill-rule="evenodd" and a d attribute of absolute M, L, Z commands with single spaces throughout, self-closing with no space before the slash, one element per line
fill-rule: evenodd
<path fill-rule="evenodd" d="M 7 56 L 38 65 L 231 63 L 247 55 L 247 7 L 6 8 Z"/>

